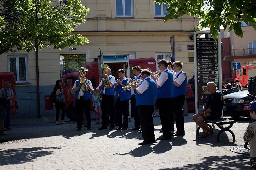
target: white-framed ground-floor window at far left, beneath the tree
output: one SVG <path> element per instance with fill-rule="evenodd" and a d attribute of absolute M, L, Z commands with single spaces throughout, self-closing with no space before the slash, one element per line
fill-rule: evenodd
<path fill-rule="evenodd" d="M 28 82 L 28 56 L 8 56 L 8 72 L 13 72 L 17 83 Z"/>

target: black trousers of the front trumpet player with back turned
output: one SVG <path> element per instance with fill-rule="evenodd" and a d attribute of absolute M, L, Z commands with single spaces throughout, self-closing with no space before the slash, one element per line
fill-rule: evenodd
<path fill-rule="evenodd" d="M 152 140 L 155 140 L 154 124 L 152 117 L 155 105 L 140 105 L 138 107 L 140 114 L 142 138 L 144 139 L 144 142 L 151 142 Z"/>

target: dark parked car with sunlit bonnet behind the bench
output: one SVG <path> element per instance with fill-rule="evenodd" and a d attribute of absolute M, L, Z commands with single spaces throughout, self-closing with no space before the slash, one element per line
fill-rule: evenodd
<path fill-rule="evenodd" d="M 250 117 L 250 112 L 244 110 L 244 106 L 249 106 L 250 102 L 254 101 L 254 99 L 247 94 L 249 94 L 248 90 L 243 90 L 225 95 L 223 115 Z"/>

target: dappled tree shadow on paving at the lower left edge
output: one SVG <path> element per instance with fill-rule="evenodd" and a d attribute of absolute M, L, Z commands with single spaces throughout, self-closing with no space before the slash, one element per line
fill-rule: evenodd
<path fill-rule="evenodd" d="M 32 147 L 7 149 L 0 151 L 0 165 L 21 164 L 25 162 L 36 161 L 36 158 L 54 154 L 53 150 L 61 149 L 62 147 Z"/>

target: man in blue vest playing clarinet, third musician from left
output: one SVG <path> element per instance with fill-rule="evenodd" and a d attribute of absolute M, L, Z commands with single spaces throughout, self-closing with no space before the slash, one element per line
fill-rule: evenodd
<path fill-rule="evenodd" d="M 129 100 L 131 98 L 130 91 L 126 90 L 123 92 L 123 87 L 129 81 L 124 76 L 124 69 L 119 69 L 117 71 L 119 79 L 116 80 L 116 119 L 118 123 L 118 129 L 116 130 L 126 130 L 128 128 L 128 110 L 129 110 Z M 124 115 L 124 123 L 122 122 L 122 114 Z"/>

